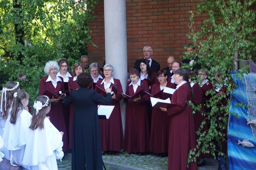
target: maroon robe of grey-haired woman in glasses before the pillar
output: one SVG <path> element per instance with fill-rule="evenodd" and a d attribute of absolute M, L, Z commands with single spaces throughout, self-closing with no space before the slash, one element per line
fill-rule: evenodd
<path fill-rule="evenodd" d="M 103 79 L 98 80 L 97 86 L 104 89 L 104 83 L 101 84 Z M 117 84 L 116 99 L 112 100 L 111 106 L 115 106 L 109 119 L 99 119 L 100 122 L 100 140 L 102 151 L 119 151 L 124 149 L 124 133 L 121 117 L 121 109 L 119 101 L 122 100 L 123 88 L 120 80 L 114 79 L 114 84 L 111 83 L 110 87 Z M 113 91 L 113 89 L 112 89 Z"/>

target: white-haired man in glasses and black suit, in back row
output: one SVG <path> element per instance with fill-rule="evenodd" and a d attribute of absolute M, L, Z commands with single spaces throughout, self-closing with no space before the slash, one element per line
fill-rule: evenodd
<path fill-rule="evenodd" d="M 151 47 L 146 46 L 146 47 L 143 48 L 143 55 L 144 55 L 144 58 L 145 58 L 146 60 L 148 60 L 148 64 L 150 65 L 150 70 L 157 72 L 157 71 L 160 70 L 160 64 L 157 63 L 155 60 L 153 60 L 153 59 L 151 58 L 151 55 L 152 55 L 152 54 L 153 54 L 153 50 L 152 50 Z M 140 68 L 140 63 L 141 63 L 140 60 L 141 60 L 141 59 L 136 60 L 136 62 L 135 62 L 135 64 L 134 64 L 134 67 L 133 67 L 133 68 L 136 68 L 137 70 L 139 70 L 139 68 Z"/>

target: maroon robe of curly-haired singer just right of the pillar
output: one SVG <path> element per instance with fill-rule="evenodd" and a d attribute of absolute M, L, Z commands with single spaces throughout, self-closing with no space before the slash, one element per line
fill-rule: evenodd
<path fill-rule="evenodd" d="M 143 86 L 142 86 L 143 82 Z M 133 85 L 127 83 L 126 94 L 133 96 Z M 142 88 L 149 93 L 147 82 L 141 81 L 136 92 Z M 147 120 L 146 103 L 150 99 L 149 95 L 141 97 L 141 101 L 134 102 L 132 99 L 124 98 L 127 101 L 126 124 L 125 124 L 125 151 L 128 153 L 148 152 L 150 144 L 150 134 Z"/>

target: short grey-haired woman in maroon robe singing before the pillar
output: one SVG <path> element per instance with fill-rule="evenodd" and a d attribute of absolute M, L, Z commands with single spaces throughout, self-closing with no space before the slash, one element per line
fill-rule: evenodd
<path fill-rule="evenodd" d="M 119 151 L 124 149 L 124 133 L 121 118 L 121 109 L 119 101 L 122 100 L 123 88 L 120 80 L 114 79 L 113 66 L 106 64 L 103 67 L 104 79 L 97 82 L 97 86 L 101 89 L 112 88 L 115 84 L 117 91 L 112 88 L 114 95 L 112 96 L 111 106 L 115 106 L 109 119 L 100 119 L 100 139 L 101 151 L 104 155 L 106 151 Z M 96 88 L 96 91 L 99 89 Z M 99 92 L 100 93 L 100 92 Z"/>

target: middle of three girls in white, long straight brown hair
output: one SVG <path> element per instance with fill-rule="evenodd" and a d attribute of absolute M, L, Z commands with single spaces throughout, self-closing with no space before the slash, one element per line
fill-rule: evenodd
<path fill-rule="evenodd" d="M 27 107 L 28 93 L 25 90 L 18 90 L 13 97 L 12 111 L 3 131 L 4 147 L 11 153 L 10 163 L 22 166 L 32 116 Z"/>

